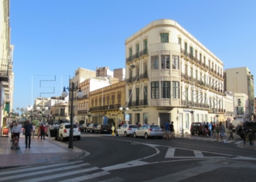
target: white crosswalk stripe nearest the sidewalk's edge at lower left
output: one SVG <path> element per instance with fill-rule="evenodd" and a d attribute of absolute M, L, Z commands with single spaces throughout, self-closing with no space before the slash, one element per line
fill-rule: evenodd
<path fill-rule="evenodd" d="M 58 167 L 58 166 L 61 166 L 61 165 L 73 165 L 73 164 L 76 164 L 76 163 L 79 163 L 79 162 L 83 162 L 83 161 L 79 160 L 79 161 L 75 161 L 75 162 L 62 162 L 62 163 L 55 164 L 55 165 L 45 165 L 45 166 L 40 166 L 40 167 L 30 167 L 30 168 L 21 169 L 21 170 L 15 170 L 15 173 L 27 172 L 27 171 L 30 171 L 30 170 L 43 170 L 45 168 Z M 8 175 L 8 174 L 13 174 L 13 170 L 0 173 L 0 175 Z"/>

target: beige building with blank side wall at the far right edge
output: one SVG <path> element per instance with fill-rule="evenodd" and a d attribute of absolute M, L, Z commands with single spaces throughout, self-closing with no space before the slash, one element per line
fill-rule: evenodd
<path fill-rule="evenodd" d="M 228 91 L 233 92 L 235 95 L 244 93 L 248 96 L 247 106 L 249 112 L 246 112 L 245 118 L 253 120 L 255 115 L 255 86 L 254 76 L 249 71 L 249 68 L 228 68 L 225 70 L 226 87 Z M 237 113 L 237 100 L 235 102 L 235 113 Z M 240 107 L 240 106 L 239 106 Z"/>

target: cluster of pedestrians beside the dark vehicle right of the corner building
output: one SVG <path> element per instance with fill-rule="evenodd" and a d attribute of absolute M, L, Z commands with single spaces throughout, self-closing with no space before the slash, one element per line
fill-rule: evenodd
<path fill-rule="evenodd" d="M 228 126 L 228 132 L 230 133 L 229 140 L 234 140 L 233 137 L 233 124 L 230 123 Z M 222 124 L 222 122 L 219 122 L 215 124 L 215 122 L 203 122 L 203 137 L 206 136 L 212 136 L 216 137 L 217 141 L 219 141 L 219 138 L 223 140 L 223 137 L 225 137 L 225 127 Z"/>

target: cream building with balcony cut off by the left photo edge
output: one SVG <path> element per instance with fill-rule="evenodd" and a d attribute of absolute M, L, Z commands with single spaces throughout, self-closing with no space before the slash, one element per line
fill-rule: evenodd
<path fill-rule="evenodd" d="M 12 53 L 14 46 L 10 44 L 10 1 L 0 1 L 0 135 L 2 128 L 10 122 L 13 103 Z"/>

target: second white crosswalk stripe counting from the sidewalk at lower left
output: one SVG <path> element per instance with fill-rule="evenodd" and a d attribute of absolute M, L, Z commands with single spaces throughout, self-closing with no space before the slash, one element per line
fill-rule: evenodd
<path fill-rule="evenodd" d="M 32 172 L 32 173 L 23 173 L 23 174 L 19 174 L 19 175 L 10 175 L 10 176 L 7 176 L 7 177 L 0 178 L 0 181 L 10 180 L 10 179 L 15 179 L 15 178 L 23 178 L 23 177 L 28 177 L 28 176 L 31 176 L 31 175 L 40 175 L 40 174 L 45 174 L 45 173 L 52 173 L 52 172 L 56 172 L 56 171 L 60 171 L 60 170 L 69 170 L 69 169 L 74 169 L 74 168 L 83 167 L 83 166 L 87 166 L 87 165 L 90 165 L 90 164 L 89 163 L 84 163 L 84 164 L 80 164 L 80 165 L 69 165 L 69 166 L 66 166 L 66 167 L 59 167 L 59 168 L 54 168 L 54 169 L 50 169 L 50 170 L 39 170 L 37 172 Z"/>

